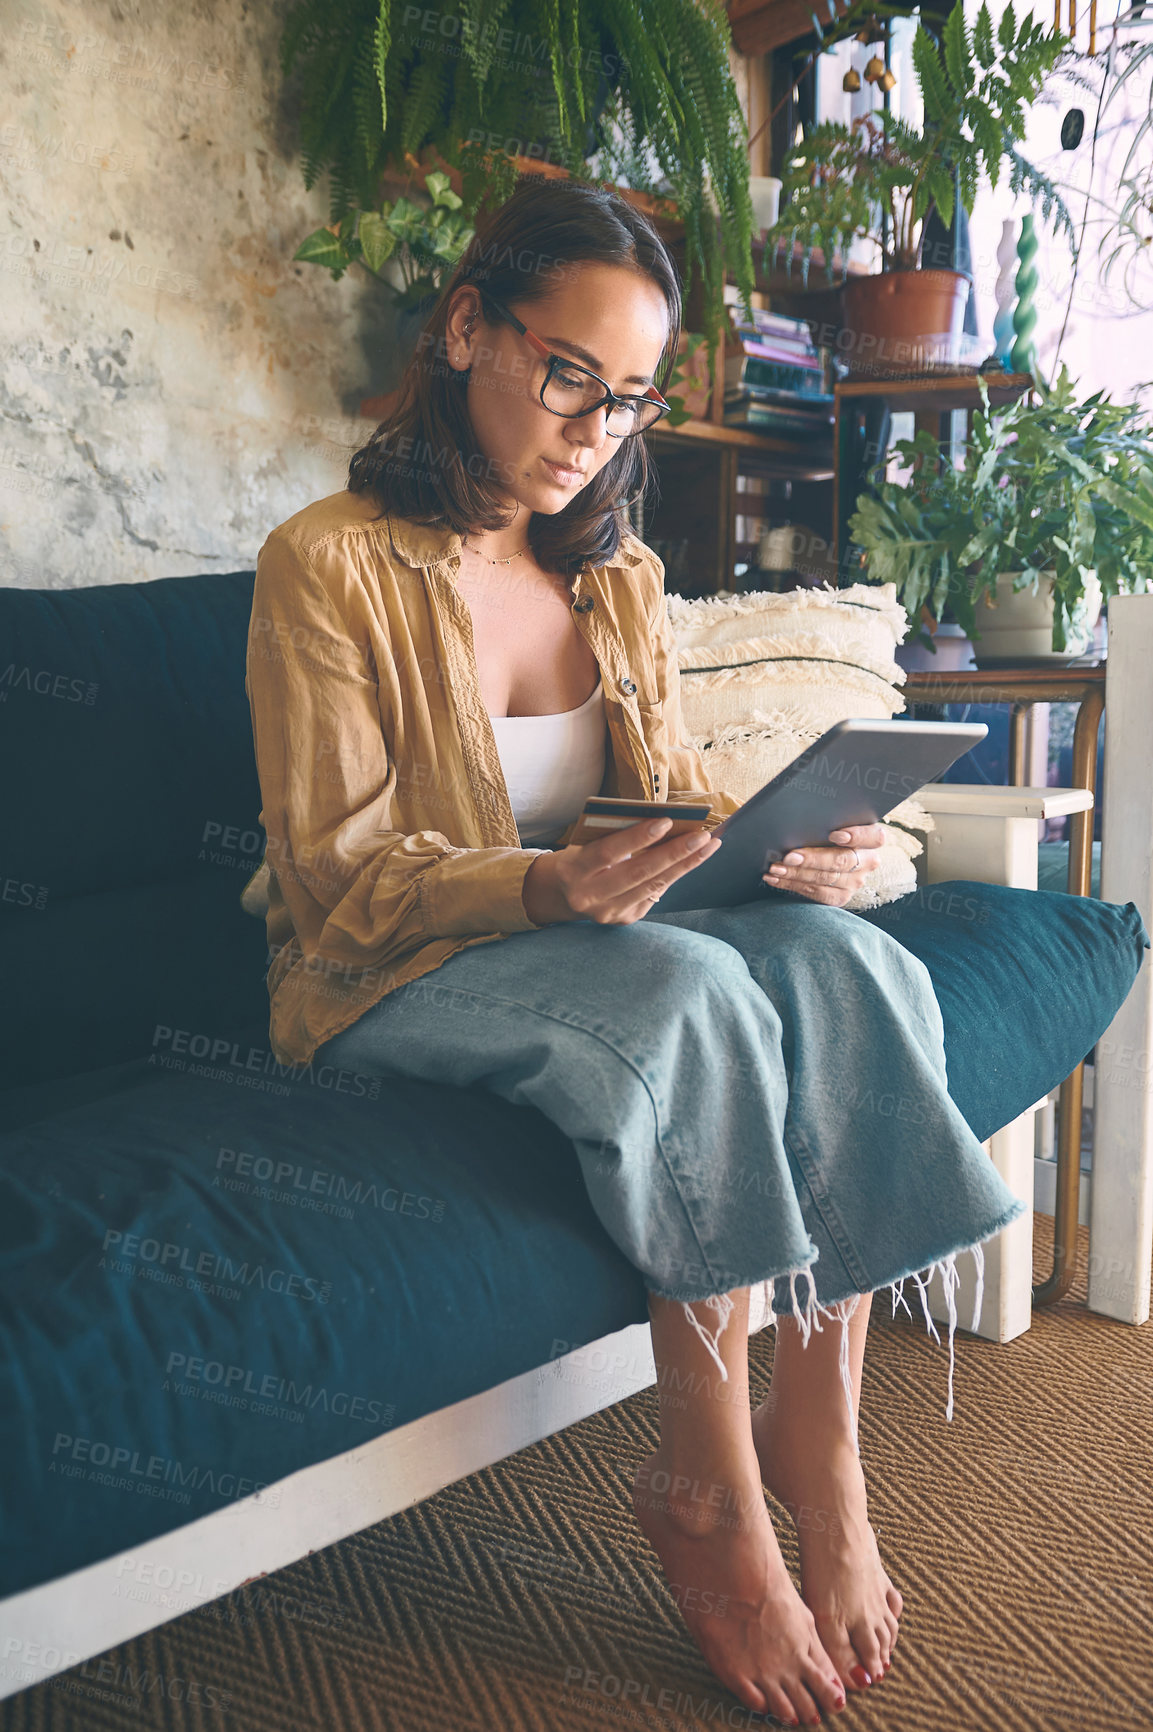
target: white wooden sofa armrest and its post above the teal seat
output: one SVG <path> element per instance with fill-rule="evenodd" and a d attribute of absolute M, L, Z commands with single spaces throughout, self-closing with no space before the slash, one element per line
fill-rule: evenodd
<path fill-rule="evenodd" d="M 985 783 L 931 781 L 918 800 L 933 814 L 924 842 L 924 883 L 973 878 L 1037 889 L 1039 821 L 1087 812 L 1089 788 L 990 788 Z"/>

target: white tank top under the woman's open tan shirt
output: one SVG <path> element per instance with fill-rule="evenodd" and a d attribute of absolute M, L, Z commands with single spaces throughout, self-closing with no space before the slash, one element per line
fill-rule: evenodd
<path fill-rule="evenodd" d="M 604 693 L 552 715 L 490 715 L 523 847 L 540 849 L 571 824 L 604 781 Z"/>

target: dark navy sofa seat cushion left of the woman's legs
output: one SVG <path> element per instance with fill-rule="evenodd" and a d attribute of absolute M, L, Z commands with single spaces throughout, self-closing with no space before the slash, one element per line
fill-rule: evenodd
<path fill-rule="evenodd" d="M 535 1108 L 261 1032 L 0 1138 L 0 1597 L 647 1318 Z"/>

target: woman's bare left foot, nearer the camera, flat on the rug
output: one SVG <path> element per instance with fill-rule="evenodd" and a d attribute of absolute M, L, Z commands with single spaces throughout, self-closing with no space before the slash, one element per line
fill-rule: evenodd
<path fill-rule="evenodd" d="M 632 1503 L 696 1645 L 746 1708 L 819 1725 L 822 1708 L 845 1706 L 751 1474 L 736 1486 L 673 1476 L 658 1448 L 635 1472 Z"/>

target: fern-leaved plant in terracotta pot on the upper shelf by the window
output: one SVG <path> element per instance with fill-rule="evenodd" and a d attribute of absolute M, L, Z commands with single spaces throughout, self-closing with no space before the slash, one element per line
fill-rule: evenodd
<path fill-rule="evenodd" d="M 995 31 L 989 5 L 982 3 L 969 33 L 964 0 L 956 0 L 940 48 L 923 23 L 912 42 L 924 107 L 919 128 L 886 107 L 874 109 L 850 125 L 814 126 L 789 154 L 781 216 L 767 248 L 784 246 L 791 268 L 800 244 L 807 272 L 819 246 L 829 281 L 840 258 L 852 353 L 869 353 L 885 371 L 886 360 L 916 364 L 918 338 L 949 334 L 956 341 L 968 279 L 956 270 L 918 267 L 930 215 L 937 211 L 949 227 L 957 201 L 971 215 L 982 175 L 995 187 L 1008 163 L 1011 189 L 1028 194 L 1046 220 L 1073 239 L 1058 189 L 1018 151 L 1028 107 L 1066 48 L 1066 36 L 1046 31 L 1028 12 L 1018 24 L 1013 0 Z M 879 59 L 871 66 L 881 66 Z M 878 76 L 869 69 L 866 74 Z M 855 239 L 876 242 L 878 275 L 848 279 Z M 893 348 L 895 339 L 907 339 L 904 357 Z"/>

